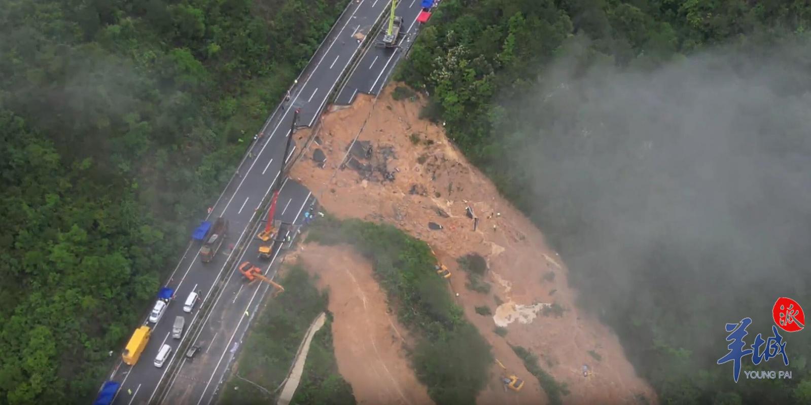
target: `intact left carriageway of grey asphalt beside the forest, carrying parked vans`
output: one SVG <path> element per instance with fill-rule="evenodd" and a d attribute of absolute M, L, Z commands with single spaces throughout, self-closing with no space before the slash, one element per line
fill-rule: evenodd
<path fill-rule="evenodd" d="M 220 279 L 225 269 L 225 262 L 230 258 L 228 245 L 238 245 L 246 235 L 247 225 L 254 211 L 267 197 L 274 181 L 276 181 L 282 167 L 294 153 L 294 146 L 288 156 L 284 154 L 287 136 L 294 122 L 294 109 L 300 109 L 297 126 L 310 126 L 321 108 L 327 101 L 328 95 L 333 91 L 342 72 L 349 65 L 354 54 L 358 52 L 361 44 L 354 40 L 357 32 L 363 32 L 374 25 L 375 20 L 384 11 L 384 0 L 361 0 L 351 2 L 338 22 L 329 32 L 320 48 L 316 51 L 298 83 L 291 88 L 291 97 L 274 111 L 260 130 L 259 138 L 251 145 L 250 154 L 242 161 L 238 173 L 226 186 L 225 190 L 212 207 L 212 213 L 206 220 L 214 220 L 222 216 L 230 221 L 229 238 L 225 241 L 221 254 L 209 263 L 200 261 L 199 243 L 191 243 L 183 254 L 183 258 L 170 275 L 166 287 L 174 288 L 175 299 L 172 301 L 157 324 L 153 325 L 152 337 L 144 349 L 140 359 L 134 366 L 123 364 L 120 360 L 109 379 L 122 383 L 114 403 L 148 403 L 152 402 L 158 384 L 164 379 L 166 370 L 179 357 L 173 352 L 161 369 L 157 369 L 152 360 L 155 359 L 158 349 L 168 343 L 175 351 L 187 339 L 172 339 L 171 333 L 174 318 L 185 316 L 186 326 L 191 326 L 197 317 L 197 310 L 204 301 L 211 299 L 214 282 Z M 276 219 L 289 219 L 294 215 L 294 209 L 301 207 L 309 198 L 309 192 L 295 182 L 287 181 L 279 195 Z M 285 209 L 285 206 L 287 208 Z M 290 211 L 288 211 L 290 210 Z M 282 214 L 282 211 L 284 213 Z M 298 210 L 295 210 L 298 211 Z M 251 246 L 246 250 L 250 252 Z M 267 284 L 263 283 L 263 286 Z M 183 313 L 182 304 L 190 292 L 200 292 L 200 301 L 195 305 L 192 313 Z M 157 292 L 156 292 L 157 299 Z M 257 301 L 258 302 L 258 301 Z M 152 309 L 150 304 L 149 309 Z M 146 317 L 144 317 L 146 318 Z M 246 322 L 247 324 L 247 322 Z M 181 353 L 182 355 L 182 353 Z"/>

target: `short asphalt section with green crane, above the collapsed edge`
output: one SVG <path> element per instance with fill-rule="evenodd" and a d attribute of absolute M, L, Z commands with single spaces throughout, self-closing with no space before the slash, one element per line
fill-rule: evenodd
<path fill-rule="evenodd" d="M 383 28 L 378 32 L 371 46 L 364 51 L 360 62 L 355 65 L 344 87 L 341 87 L 335 104 L 352 104 L 358 93 L 377 95 L 383 89 L 388 75 L 391 74 L 394 66 L 397 66 L 397 62 L 400 61 L 400 58 L 410 48 L 417 36 L 420 26 L 420 23 L 417 22 L 417 16 L 423 10 L 420 6 L 421 3 L 420 0 L 400 0 L 397 3 L 395 15 L 403 18 L 398 46 L 396 48 L 384 48 L 375 45 L 383 40 L 386 33 L 388 19 L 384 19 Z"/>

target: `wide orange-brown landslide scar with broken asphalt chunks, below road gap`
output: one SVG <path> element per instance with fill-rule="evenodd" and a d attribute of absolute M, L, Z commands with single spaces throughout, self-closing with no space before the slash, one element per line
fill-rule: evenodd
<path fill-rule="evenodd" d="M 467 318 L 491 343 L 496 358 L 526 380 L 521 392 L 504 392 L 498 380 L 501 369 L 494 364 L 492 383 L 478 403 L 548 402 L 539 382 L 508 343 L 539 355 L 540 366 L 567 385 L 570 394 L 564 396 L 564 403 L 636 403 L 637 395 L 656 403 L 654 391 L 637 376 L 614 332 L 574 304 L 577 292 L 568 286 L 568 269 L 541 232 L 461 156 L 441 126 L 418 119 L 420 101 L 395 101 L 392 89 L 393 85 L 388 86 L 374 106 L 371 97 L 360 95 L 352 106 L 326 113 L 318 134 L 321 144 L 311 144 L 291 176 L 307 185 L 326 210 L 340 218 L 394 224 L 431 245 L 453 272 L 449 288 L 459 293 L 457 302 Z M 362 176 L 353 168 L 337 168 L 367 117 L 359 140 L 371 141 L 373 153 L 370 160 L 358 160 L 377 168 L 385 165 L 393 173 L 393 181 L 384 180 L 383 172 Z M 306 136 L 306 132 L 296 134 L 300 139 Z M 392 153 L 383 164 L 382 152 L 388 147 Z M 324 168 L 311 160 L 315 148 L 327 156 Z M 468 205 L 478 215 L 476 231 L 466 216 Z M 429 222 L 444 228 L 432 231 Z M 471 252 L 487 258 L 489 271 L 484 280 L 492 285 L 489 294 L 466 288 L 466 273 L 458 268 L 456 258 Z M 338 268 L 333 266 L 332 271 Z M 553 280 L 543 279 L 547 271 L 555 273 Z M 504 304 L 496 308 L 496 300 Z M 562 317 L 543 314 L 542 304 L 551 303 L 564 307 Z M 495 315 L 478 315 L 474 307 L 480 305 L 487 305 Z M 357 327 L 363 327 L 363 321 L 357 322 L 361 322 Z M 497 324 L 505 325 L 508 335 L 496 335 Z M 341 339 L 359 338 L 336 333 L 336 346 L 345 344 L 339 343 Z M 584 364 L 590 370 L 588 377 L 583 375 Z M 378 378 L 369 374 L 369 378 Z"/>

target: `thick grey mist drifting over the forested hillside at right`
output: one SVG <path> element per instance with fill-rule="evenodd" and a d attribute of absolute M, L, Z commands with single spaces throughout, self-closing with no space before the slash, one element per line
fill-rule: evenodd
<path fill-rule="evenodd" d="M 504 102 L 520 117 L 504 165 L 519 165 L 570 282 L 643 377 L 706 369 L 732 383 L 732 366 L 715 364 L 724 323 L 753 318 L 751 344 L 770 335 L 779 296 L 811 305 L 809 51 L 800 41 L 714 48 L 646 70 L 576 41 L 534 92 Z M 805 373 L 811 339 L 783 337 Z"/>

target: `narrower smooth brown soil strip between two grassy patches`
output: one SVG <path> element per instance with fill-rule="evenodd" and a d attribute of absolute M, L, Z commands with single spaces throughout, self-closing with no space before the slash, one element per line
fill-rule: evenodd
<path fill-rule="evenodd" d="M 319 288 L 329 290 L 338 371 L 352 386 L 358 403 L 432 404 L 410 368 L 404 352 L 410 340 L 388 313 L 385 293 L 372 278 L 371 263 L 346 245 L 306 244 L 296 256 L 307 271 L 318 275 Z"/>

